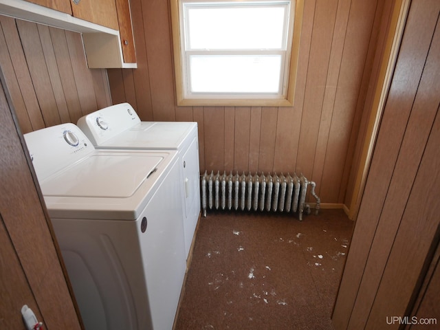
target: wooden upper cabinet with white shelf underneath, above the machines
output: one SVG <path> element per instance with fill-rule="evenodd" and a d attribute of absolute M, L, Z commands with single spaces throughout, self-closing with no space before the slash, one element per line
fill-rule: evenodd
<path fill-rule="evenodd" d="M 80 32 L 90 69 L 137 67 L 129 0 L 0 0 L 0 14 Z"/>

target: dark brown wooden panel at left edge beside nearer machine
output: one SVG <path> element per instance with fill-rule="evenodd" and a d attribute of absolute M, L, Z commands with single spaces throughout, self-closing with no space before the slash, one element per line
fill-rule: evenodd
<path fill-rule="evenodd" d="M 82 329 L 61 252 L 0 67 L 0 326 L 25 329 L 28 305 L 44 329 Z"/>

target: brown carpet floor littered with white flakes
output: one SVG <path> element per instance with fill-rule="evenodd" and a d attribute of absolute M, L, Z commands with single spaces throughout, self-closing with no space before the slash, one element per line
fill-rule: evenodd
<path fill-rule="evenodd" d="M 175 330 L 332 330 L 353 229 L 342 210 L 208 212 L 195 239 Z"/>

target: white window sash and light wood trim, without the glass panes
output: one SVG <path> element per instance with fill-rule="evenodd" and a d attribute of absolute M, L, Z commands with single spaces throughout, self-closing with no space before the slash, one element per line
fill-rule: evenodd
<path fill-rule="evenodd" d="M 250 1 L 250 0 L 248 0 Z M 300 41 L 300 28 L 303 15 L 303 0 L 287 0 L 290 2 L 288 15 L 291 16 L 290 24 L 284 33 L 287 34 L 287 44 L 283 45 L 283 50 L 188 50 L 186 51 L 186 40 L 184 36 L 184 3 L 197 3 L 206 5 L 210 2 L 225 2 L 233 5 L 243 5 L 244 1 L 236 0 L 171 0 L 171 17 L 173 23 L 173 47 L 176 78 L 176 95 L 178 105 L 192 106 L 292 106 L 294 102 L 294 90 L 296 71 L 298 63 L 298 50 Z M 285 0 L 252 0 L 252 3 L 279 5 Z M 280 76 L 280 91 L 278 93 L 190 93 L 190 77 L 187 74 L 189 56 L 194 54 L 257 54 L 271 55 L 281 54 L 284 71 Z"/>

